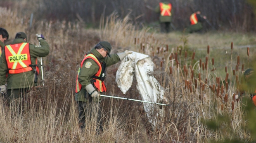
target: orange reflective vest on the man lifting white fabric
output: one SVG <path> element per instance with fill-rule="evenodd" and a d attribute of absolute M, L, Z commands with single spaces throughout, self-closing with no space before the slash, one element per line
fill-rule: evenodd
<path fill-rule="evenodd" d="M 104 78 L 105 78 L 104 77 L 105 76 L 104 71 L 105 71 L 105 68 L 102 67 L 103 63 L 100 63 L 99 60 L 95 57 L 95 55 L 93 55 L 93 54 L 86 55 L 85 54 L 85 56 L 84 56 L 84 58 L 83 58 L 83 60 L 82 60 L 82 62 L 80 64 L 80 67 L 78 69 L 77 76 L 76 76 L 76 93 L 78 93 L 81 90 L 81 88 L 82 88 L 82 85 L 78 81 L 78 75 L 79 75 L 79 73 L 81 71 L 81 68 L 83 67 L 83 62 L 86 59 L 89 59 L 89 58 L 94 60 L 98 64 L 98 66 L 99 66 L 99 70 L 97 71 L 97 73 L 94 76 L 92 76 L 92 81 L 94 83 L 94 86 L 100 92 L 106 92 L 107 88 L 106 88 L 105 83 L 104 83 Z"/>

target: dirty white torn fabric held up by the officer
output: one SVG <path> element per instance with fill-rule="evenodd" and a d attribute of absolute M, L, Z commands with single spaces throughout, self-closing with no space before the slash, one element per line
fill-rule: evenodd
<path fill-rule="evenodd" d="M 137 80 L 137 89 L 143 101 L 159 103 L 164 97 L 164 88 L 153 75 L 154 63 L 148 55 L 133 52 L 127 55 L 121 62 L 116 72 L 116 83 L 123 94 L 129 90 L 133 83 L 133 75 Z M 143 103 L 149 122 L 156 124 L 156 117 L 162 116 L 159 106 Z"/>

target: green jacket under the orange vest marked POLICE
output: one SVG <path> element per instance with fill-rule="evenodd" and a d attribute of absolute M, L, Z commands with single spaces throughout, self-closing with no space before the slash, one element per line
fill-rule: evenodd
<path fill-rule="evenodd" d="M 18 44 L 26 42 L 23 39 L 14 39 L 12 44 Z M 29 51 L 31 56 L 31 65 L 36 65 L 37 57 L 45 57 L 50 52 L 50 47 L 44 39 L 40 39 L 41 46 L 35 46 L 29 44 Z M 7 62 L 5 59 L 5 50 L 2 51 L 2 56 L 0 58 L 0 85 L 5 84 L 6 73 L 7 73 Z M 33 67 L 35 69 L 35 67 Z M 29 88 L 34 85 L 34 76 L 35 71 L 27 71 L 19 74 L 7 74 L 7 90 L 8 89 L 20 89 L 20 88 Z"/>

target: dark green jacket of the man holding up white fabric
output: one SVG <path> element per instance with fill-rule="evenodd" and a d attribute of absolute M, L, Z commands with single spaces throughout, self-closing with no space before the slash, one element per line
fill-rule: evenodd
<path fill-rule="evenodd" d="M 115 63 L 120 61 L 120 58 L 117 54 L 111 54 L 111 58 L 109 56 L 104 58 L 95 48 L 93 48 L 89 53 L 92 53 L 93 55 L 95 55 L 100 60 L 100 62 L 105 62 L 107 67 L 114 65 Z M 86 62 L 91 63 L 90 68 L 85 67 Z M 84 102 L 86 101 L 85 87 L 91 84 L 92 76 L 94 76 L 97 73 L 99 68 L 100 67 L 97 65 L 97 63 L 90 58 L 86 59 L 83 62 L 83 67 L 81 68 L 81 71 L 78 75 L 78 81 L 81 83 L 82 89 L 80 90 L 80 92 L 76 93 L 76 96 L 75 96 L 76 101 L 84 101 Z M 100 100 L 101 98 L 99 99 L 99 101 Z"/>

